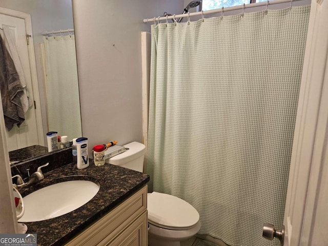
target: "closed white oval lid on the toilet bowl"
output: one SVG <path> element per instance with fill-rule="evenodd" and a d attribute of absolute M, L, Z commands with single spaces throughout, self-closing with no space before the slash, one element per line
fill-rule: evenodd
<path fill-rule="evenodd" d="M 199 220 L 199 214 L 191 204 L 168 194 L 148 193 L 147 207 L 148 220 L 163 228 L 183 230 Z"/>

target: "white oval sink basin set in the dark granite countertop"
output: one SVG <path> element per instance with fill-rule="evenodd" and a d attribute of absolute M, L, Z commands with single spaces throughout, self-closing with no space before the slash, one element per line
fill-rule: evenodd
<path fill-rule="evenodd" d="M 41 221 L 67 214 L 90 201 L 99 186 L 88 180 L 55 183 L 23 198 L 25 213 L 19 222 Z"/>

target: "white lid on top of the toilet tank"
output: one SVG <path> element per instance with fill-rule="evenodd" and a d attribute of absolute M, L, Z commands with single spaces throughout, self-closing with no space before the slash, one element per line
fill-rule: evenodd
<path fill-rule="evenodd" d="M 130 142 L 124 147 L 129 148 L 129 150 L 109 158 L 109 163 L 120 166 L 145 154 L 146 146 L 140 142 Z"/>

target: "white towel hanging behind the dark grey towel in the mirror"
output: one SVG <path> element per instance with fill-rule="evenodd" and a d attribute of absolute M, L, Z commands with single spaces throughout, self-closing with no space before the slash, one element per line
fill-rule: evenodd
<path fill-rule="evenodd" d="M 12 35 L 10 33 L 10 29 L 7 26 L 3 26 L 3 31 L 0 30 L 0 34 L 3 39 L 3 43 L 5 44 L 5 47 L 7 48 L 10 57 L 13 60 L 13 63 L 15 65 L 16 71 L 19 76 L 20 85 L 23 87 L 23 94 L 20 96 L 20 103 L 22 103 L 24 112 L 26 113 L 28 109 L 33 105 L 32 98 L 29 98 L 28 91 L 26 87 L 26 80 L 25 75 L 22 67 L 22 63 L 20 62 L 18 51 L 16 48 L 16 45 L 14 43 L 14 39 L 12 38 Z"/>

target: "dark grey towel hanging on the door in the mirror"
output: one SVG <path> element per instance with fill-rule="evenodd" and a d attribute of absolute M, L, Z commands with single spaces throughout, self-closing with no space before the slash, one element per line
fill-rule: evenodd
<path fill-rule="evenodd" d="M 19 76 L 13 60 L 4 46 L 0 36 L 0 90 L 5 125 L 10 131 L 16 124 L 18 127 L 25 120 L 25 113 L 20 103 L 23 87 L 20 85 Z"/>

